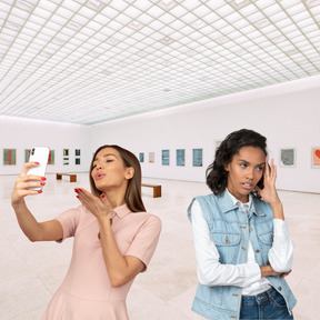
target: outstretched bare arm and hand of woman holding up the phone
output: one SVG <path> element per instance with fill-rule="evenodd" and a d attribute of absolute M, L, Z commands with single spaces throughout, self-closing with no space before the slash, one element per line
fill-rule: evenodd
<path fill-rule="evenodd" d="M 59 221 L 51 220 L 38 222 L 28 209 L 24 197 L 36 196 L 42 191 L 29 190 L 30 187 L 43 187 L 46 178 L 39 176 L 27 176 L 31 167 L 38 166 L 37 162 L 24 163 L 23 169 L 16 180 L 11 194 L 11 206 L 16 212 L 18 223 L 30 241 L 50 241 L 62 238 L 62 227 Z M 36 182 L 34 182 L 36 181 Z"/>

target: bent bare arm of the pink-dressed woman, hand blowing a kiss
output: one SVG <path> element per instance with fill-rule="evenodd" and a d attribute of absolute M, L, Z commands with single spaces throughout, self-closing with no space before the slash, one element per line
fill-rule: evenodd
<path fill-rule="evenodd" d="M 132 280 L 144 269 L 144 263 L 133 256 L 122 256 L 116 242 L 110 223 L 112 208 L 107 197 L 98 198 L 84 189 L 78 189 L 81 203 L 97 218 L 104 264 L 112 287 L 120 287 Z M 103 197 L 104 196 L 104 197 Z"/>

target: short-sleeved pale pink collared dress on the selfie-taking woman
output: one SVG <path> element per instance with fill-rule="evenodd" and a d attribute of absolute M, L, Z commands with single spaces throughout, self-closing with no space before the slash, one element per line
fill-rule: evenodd
<path fill-rule="evenodd" d="M 161 221 L 147 212 L 131 212 L 126 204 L 114 209 L 112 230 L 123 256 L 134 256 L 148 266 L 156 250 Z M 74 237 L 68 273 L 53 294 L 42 320 L 128 320 L 126 298 L 133 282 L 113 288 L 98 238 L 97 218 L 83 206 L 57 220 L 63 239 Z"/>

